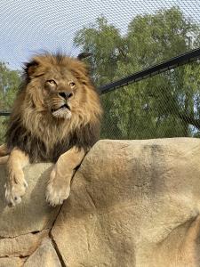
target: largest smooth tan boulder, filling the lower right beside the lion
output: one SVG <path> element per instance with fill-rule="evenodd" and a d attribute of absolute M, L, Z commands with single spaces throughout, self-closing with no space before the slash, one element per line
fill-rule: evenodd
<path fill-rule="evenodd" d="M 200 140 L 100 141 L 52 237 L 70 267 L 197 267 Z"/>

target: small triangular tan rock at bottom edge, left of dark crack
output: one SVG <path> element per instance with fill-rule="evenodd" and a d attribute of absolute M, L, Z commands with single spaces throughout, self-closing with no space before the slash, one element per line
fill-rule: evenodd
<path fill-rule="evenodd" d="M 51 239 L 44 239 L 35 253 L 29 256 L 24 267 L 61 267 L 58 255 L 52 247 Z"/>

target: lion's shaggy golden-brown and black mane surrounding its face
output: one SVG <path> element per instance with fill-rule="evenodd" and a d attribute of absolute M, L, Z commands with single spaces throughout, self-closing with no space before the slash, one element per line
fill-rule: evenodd
<path fill-rule="evenodd" d="M 53 117 L 44 105 L 44 77 L 66 69 L 76 79 L 72 116 Z M 100 98 L 82 61 L 62 54 L 36 55 L 25 64 L 23 82 L 14 101 L 6 132 L 8 150 L 19 148 L 30 162 L 53 161 L 71 147 L 88 150 L 100 133 Z"/>

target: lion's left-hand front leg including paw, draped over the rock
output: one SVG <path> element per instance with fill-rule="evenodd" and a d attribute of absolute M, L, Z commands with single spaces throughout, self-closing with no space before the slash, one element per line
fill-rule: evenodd
<path fill-rule="evenodd" d="M 24 152 L 14 149 L 8 158 L 7 172 L 8 180 L 5 184 L 5 198 L 9 206 L 20 203 L 21 197 L 25 194 L 28 186 L 24 179 L 23 167 L 29 162 Z"/>

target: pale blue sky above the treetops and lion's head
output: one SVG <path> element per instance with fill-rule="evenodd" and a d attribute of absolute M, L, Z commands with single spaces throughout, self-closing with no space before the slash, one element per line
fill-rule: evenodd
<path fill-rule="evenodd" d="M 76 56 L 77 30 L 104 15 L 125 34 L 137 14 L 179 6 L 200 23 L 200 0 L 0 0 L 0 61 L 20 69 L 34 53 L 60 51 Z"/>

